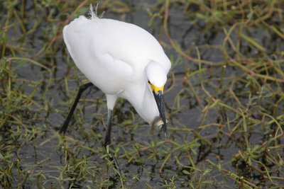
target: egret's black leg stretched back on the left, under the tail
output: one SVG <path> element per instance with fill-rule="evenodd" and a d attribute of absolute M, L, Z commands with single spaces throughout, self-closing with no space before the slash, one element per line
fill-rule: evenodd
<path fill-rule="evenodd" d="M 73 103 L 73 105 L 72 105 L 72 108 L 71 108 L 71 110 L 70 110 L 70 112 L 69 112 L 69 114 L 68 114 L 68 116 L 67 116 L 67 118 L 66 118 L 64 124 L 62 125 L 62 127 L 61 127 L 60 130 L 59 130 L 60 133 L 62 133 L 62 132 L 65 133 L 65 132 L 66 132 L 67 127 L 68 127 L 68 124 L 69 124 L 69 122 L 70 122 L 70 120 L 71 120 L 71 118 L 72 118 L 72 115 L 73 115 L 73 113 L 74 113 L 74 110 L 75 110 L 75 108 L 76 108 L 76 106 L 77 106 L 77 103 L 79 102 L 79 100 L 80 100 L 80 98 L 81 98 L 81 96 L 82 96 L 82 93 L 83 93 L 84 91 L 86 91 L 86 89 L 89 88 L 89 86 L 94 86 L 94 84 L 92 84 L 92 83 L 87 83 L 87 84 L 83 84 L 82 86 L 80 86 L 79 91 L 78 91 L 78 93 L 77 93 L 77 96 L 76 96 L 76 98 L 75 98 L 75 101 L 74 101 L 74 103 Z"/>

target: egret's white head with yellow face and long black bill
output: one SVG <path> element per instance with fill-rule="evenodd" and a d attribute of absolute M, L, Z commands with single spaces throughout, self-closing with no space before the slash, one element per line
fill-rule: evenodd
<path fill-rule="evenodd" d="M 167 74 L 160 64 L 151 62 L 146 67 L 146 76 L 148 79 L 148 85 L 150 86 L 155 98 L 155 103 L 158 106 L 160 118 L 163 120 L 165 137 L 167 137 L 167 120 L 165 118 L 165 105 L 163 102 L 163 91 L 165 82 L 167 81 Z"/>

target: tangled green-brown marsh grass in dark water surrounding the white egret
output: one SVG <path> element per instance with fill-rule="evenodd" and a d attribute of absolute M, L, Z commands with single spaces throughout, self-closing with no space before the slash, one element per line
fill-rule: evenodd
<path fill-rule="evenodd" d="M 2 188 L 284 188 L 283 1 L 99 4 L 107 18 L 136 18 L 173 63 L 167 139 L 129 103 L 116 105 L 121 174 L 102 145 L 101 91 L 84 93 L 67 134 L 58 134 L 84 82 L 62 27 L 90 3 L 0 1 Z"/>

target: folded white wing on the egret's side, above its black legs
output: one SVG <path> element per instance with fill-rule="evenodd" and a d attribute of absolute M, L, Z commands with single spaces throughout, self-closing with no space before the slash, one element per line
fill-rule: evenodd
<path fill-rule="evenodd" d="M 131 79 L 133 68 L 122 57 L 111 52 L 107 36 L 97 30 L 92 21 L 80 16 L 63 29 L 68 52 L 82 73 L 105 93 L 117 93 L 126 79 Z M 111 87 L 110 87 L 111 86 Z M 111 88 L 111 91 L 109 91 Z"/>

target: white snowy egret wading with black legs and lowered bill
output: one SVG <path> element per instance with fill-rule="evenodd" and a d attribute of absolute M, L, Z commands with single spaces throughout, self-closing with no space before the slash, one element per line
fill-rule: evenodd
<path fill-rule="evenodd" d="M 171 64 L 153 35 L 131 23 L 99 18 L 91 5 L 89 18 L 79 16 L 65 25 L 63 38 L 90 83 L 80 86 L 60 132 L 66 131 L 82 92 L 94 85 L 107 96 L 105 146 L 110 144 L 111 114 L 117 98 L 128 100 L 150 125 L 162 122 L 158 126 L 163 127 L 166 137 L 163 88 Z"/>

